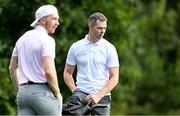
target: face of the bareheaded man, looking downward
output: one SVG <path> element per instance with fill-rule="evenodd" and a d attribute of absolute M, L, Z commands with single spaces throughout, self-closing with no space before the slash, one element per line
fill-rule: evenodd
<path fill-rule="evenodd" d="M 107 22 L 106 21 L 100 21 L 97 20 L 96 25 L 90 27 L 91 34 L 93 35 L 94 39 L 101 39 L 107 28 Z"/>

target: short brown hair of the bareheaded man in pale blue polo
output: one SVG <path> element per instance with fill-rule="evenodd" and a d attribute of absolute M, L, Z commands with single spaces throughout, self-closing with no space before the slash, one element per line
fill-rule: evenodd
<path fill-rule="evenodd" d="M 107 21 L 107 18 L 100 12 L 95 12 L 93 14 L 91 14 L 89 16 L 89 19 L 88 19 L 88 25 L 89 26 L 94 26 L 96 25 L 96 22 L 97 20 L 100 20 L 100 21 Z"/>

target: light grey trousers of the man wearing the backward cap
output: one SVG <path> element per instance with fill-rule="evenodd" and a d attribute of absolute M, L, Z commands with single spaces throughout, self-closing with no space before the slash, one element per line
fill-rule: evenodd
<path fill-rule="evenodd" d="M 16 97 L 18 115 L 58 115 L 62 98 L 56 98 L 48 85 L 21 85 Z"/>

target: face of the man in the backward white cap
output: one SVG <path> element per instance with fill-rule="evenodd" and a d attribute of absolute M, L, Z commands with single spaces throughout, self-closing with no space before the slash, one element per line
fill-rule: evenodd
<path fill-rule="evenodd" d="M 54 33 L 58 25 L 59 25 L 59 18 L 56 17 L 55 15 L 49 15 L 45 17 L 44 26 L 48 33 Z"/>

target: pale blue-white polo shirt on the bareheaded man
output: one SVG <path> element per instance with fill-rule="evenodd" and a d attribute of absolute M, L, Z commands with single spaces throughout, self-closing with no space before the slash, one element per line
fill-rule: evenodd
<path fill-rule="evenodd" d="M 105 86 L 109 67 L 119 67 L 115 47 L 103 38 L 92 44 L 87 35 L 70 47 L 66 63 L 77 65 L 77 88 L 89 94 Z"/>

